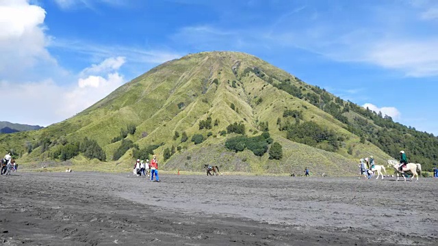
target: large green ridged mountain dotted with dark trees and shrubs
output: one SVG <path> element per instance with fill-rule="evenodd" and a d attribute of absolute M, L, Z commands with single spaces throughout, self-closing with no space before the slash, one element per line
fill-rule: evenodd
<path fill-rule="evenodd" d="M 252 55 L 205 52 L 159 65 L 73 118 L 1 135 L 0 151 L 29 168 L 70 159 L 120 171 L 155 153 L 168 170 L 348 175 L 359 158 L 383 165 L 401 149 L 428 169 L 437 143 Z"/>

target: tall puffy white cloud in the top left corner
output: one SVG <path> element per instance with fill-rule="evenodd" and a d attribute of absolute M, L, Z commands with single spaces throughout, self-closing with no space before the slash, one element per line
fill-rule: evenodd
<path fill-rule="evenodd" d="M 20 76 L 36 64 L 55 64 L 46 49 L 43 25 L 46 12 L 29 1 L 0 1 L 0 75 Z"/>

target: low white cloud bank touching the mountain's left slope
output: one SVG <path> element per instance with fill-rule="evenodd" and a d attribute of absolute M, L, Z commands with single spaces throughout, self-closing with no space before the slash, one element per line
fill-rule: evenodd
<path fill-rule="evenodd" d="M 86 68 L 104 67 L 108 60 Z M 120 65 L 121 66 L 121 65 Z M 119 68 L 119 66 L 113 66 Z M 0 92 L 8 92 L 11 103 L 1 103 L 0 112 L 8 115 L 10 122 L 47 126 L 79 113 L 101 100 L 125 83 L 123 75 L 116 71 L 105 75 L 88 75 L 77 83 L 65 87 L 52 79 L 32 83 L 0 82 Z"/>

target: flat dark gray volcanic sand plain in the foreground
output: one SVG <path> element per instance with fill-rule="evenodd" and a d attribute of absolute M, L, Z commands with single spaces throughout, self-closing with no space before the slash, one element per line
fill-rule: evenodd
<path fill-rule="evenodd" d="M 3 245 L 438 245 L 438 179 L 0 176 Z"/>

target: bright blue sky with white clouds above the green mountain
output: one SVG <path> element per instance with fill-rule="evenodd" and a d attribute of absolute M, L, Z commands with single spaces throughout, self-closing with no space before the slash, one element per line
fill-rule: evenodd
<path fill-rule="evenodd" d="M 437 27 L 428 0 L 2 0 L 0 120 L 47 126 L 169 59 L 242 51 L 438 135 Z"/>

